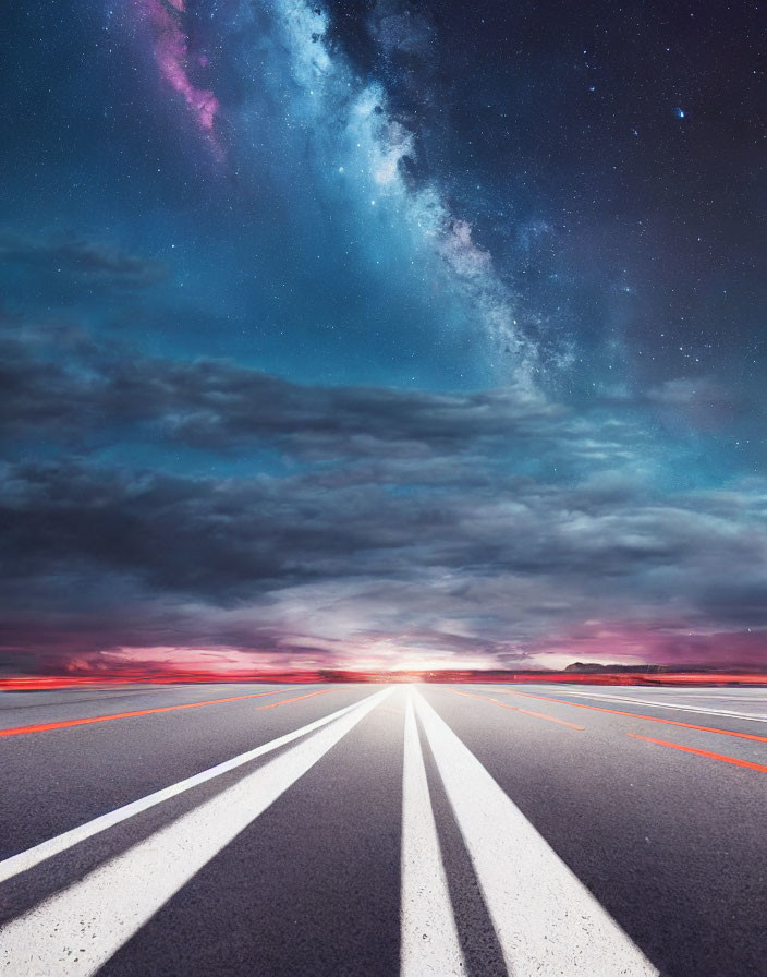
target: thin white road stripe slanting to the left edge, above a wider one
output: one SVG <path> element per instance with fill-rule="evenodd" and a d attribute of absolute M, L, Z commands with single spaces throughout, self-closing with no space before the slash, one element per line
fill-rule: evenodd
<path fill-rule="evenodd" d="M 27 848 L 26 852 L 11 855 L 10 858 L 0 861 L 0 882 L 12 879 L 13 876 L 17 876 L 20 872 L 24 872 L 27 869 L 39 865 L 41 861 L 45 861 L 46 858 L 52 858 L 53 855 L 59 855 L 61 852 L 65 852 L 68 848 L 80 844 L 80 842 L 92 837 L 94 834 L 98 834 L 100 831 L 106 831 L 108 828 L 112 828 L 114 824 L 119 824 L 127 818 L 133 818 L 135 815 L 145 811 L 147 808 L 154 807 L 156 804 L 161 804 L 170 797 L 183 794 L 184 791 L 191 791 L 192 787 L 204 784 L 206 781 L 220 776 L 222 773 L 228 773 L 230 770 L 235 770 L 238 767 L 242 767 L 243 763 L 249 763 L 251 760 L 255 760 L 257 757 L 263 757 L 265 753 L 270 753 L 272 750 L 279 749 L 288 743 L 292 743 L 294 739 L 306 736 L 308 733 L 319 729 L 320 726 L 325 726 L 327 723 L 331 723 L 333 720 L 351 712 L 358 704 L 358 702 L 353 702 L 351 705 L 345 705 L 343 709 L 339 709 L 330 715 L 315 720 L 313 723 L 308 723 L 300 729 L 294 729 L 292 733 L 285 733 L 284 736 L 278 736 L 277 739 L 272 739 L 263 746 L 247 750 L 245 753 L 240 753 L 239 757 L 232 757 L 231 760 L 224 760 L 222 763 L 209 767 L 207 770 L 187 776 L 183 781 L 179 781 L 168 787 L 162 787 L 159 791 L 155 791 L 153 794 L 139 797 L 137 800 L 132 800 L 130 804 L 125 804 L 113 811 L 108 811 L 106 815 L 100 815 L 98 818 L 94 818 L 85 824 L 78 824 L 76 828 L 72 828 L 63 834 L 40 842 L 39 845 Z"/>

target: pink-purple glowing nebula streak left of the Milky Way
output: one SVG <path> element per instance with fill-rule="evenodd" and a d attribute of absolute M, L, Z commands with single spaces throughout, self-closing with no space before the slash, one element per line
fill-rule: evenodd
<path fill-rule="evenodd" d="M 220 102 L 212 92 L 198 88 L 190 79 L 188 38 L 183 26 L 185 0 L 134 0 L 139 17 L 151 28 L 155 61 L 166 82 L 182 95 L 197 125 L 212 133 Z M 197 59 L 205 67 L 205 56 Z"/>

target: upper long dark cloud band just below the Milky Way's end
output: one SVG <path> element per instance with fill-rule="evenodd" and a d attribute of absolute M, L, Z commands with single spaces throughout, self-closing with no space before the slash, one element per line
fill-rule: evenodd
<path fill-rule="evenodd" d="M 231 362 L 149 359 L 68 327 L 16 324 L 0 339 L 8 433 L 82 438 L 151 423 L 168 441 L 229 450 L 259 439 L 305 458 L 448 450 L 466 439 L 532 437 L 562 409 L 523 388 L 438 395 L 301 386 Z"/>

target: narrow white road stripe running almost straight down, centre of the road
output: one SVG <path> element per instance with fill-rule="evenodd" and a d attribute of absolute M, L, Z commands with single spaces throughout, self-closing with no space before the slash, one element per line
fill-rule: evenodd
<path fill-rule="evenodd" d="M 409 693 L 402 768 L 400 977 L 465 974 Z"/>

